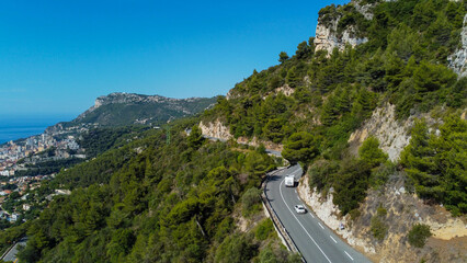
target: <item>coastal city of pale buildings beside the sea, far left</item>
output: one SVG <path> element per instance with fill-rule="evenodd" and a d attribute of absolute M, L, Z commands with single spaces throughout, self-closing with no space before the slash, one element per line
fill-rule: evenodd
<path fill-rule="evenodd" d="M 76 137 L 87 130 L 89 127 L 86 125 L 54 126 L 41 135 L 0 145 L 0 220 L 11 224 L 20 219 L 25 221 L 34 217 L 27 215 L 35 214 L 31 209 L 38 208 L 37 202 L 46 203 L 54 195 L 68 194 L 67 191 L 55 190 L 39 201 L 32 196 L 34 190 L 59 171 L 59 168 L 50 165 L 76 163 L 86 158 Z"/>

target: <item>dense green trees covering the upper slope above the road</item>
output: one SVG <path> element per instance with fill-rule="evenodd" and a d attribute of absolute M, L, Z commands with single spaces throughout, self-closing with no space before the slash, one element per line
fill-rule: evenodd
<path fill-rule="evenodd" d="M 218 98 L 204 114 L 205 121 L 225 123 L 235 137 L 284 144 L 291 162 L 312 163 L 312 186 L 333 188 L 343 214 L 358 206 L 367 187 L 384 184 L 395 170 L 387 158 L 353 158 L 348 150 L 350 134 L 376 106 L 394 104 L 397 118 L 405 119 L 432 110 L 447 115 L 464 108 L 467 100 L 467 79 L 458 79 L 446 66 L 460 43 L 465 1 L 361 1 L 365 3 L 377 3 L 373 20 L 350 3 L 322 9 L 319 21 L 338 23 L 337 34 L 352 30 L 367 43 L 327 54 L 315 53 L 314 38 L 303 42 L 293 57 L 281 53 L 280 65 L 254 71 L 236 84 L 228 100 Z M 460 112 L 455 114 L 458 118 Z M 368 144 L 377 148 L 377 141 Z M 465 155 L 465 147 L 459 147 Z M 438 165 L 441 160 L 432 161 Z M 465 172 L 465 167 L 458 170 Z M 422 197 L 433 197 L 423 183 L 415 180 L 415 184 Z M 435 199 L 465 213 L 465 197 L 452 191 L 456 187 L 445 185 L 444 197 Z M 465 185 L 458 187 L 465 194 Z"/>

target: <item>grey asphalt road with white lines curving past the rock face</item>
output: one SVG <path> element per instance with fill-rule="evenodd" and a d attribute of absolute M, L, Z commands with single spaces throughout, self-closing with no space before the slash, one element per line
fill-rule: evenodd
<path fill-rule="evenodd" d="M 371 262 L 352 249 L 332 232 L 312 211 L 297 214 L 295 205 L 305 205 L 298 197 L 296 187 L 285 187 L 284 178 L 293 174 L 298 180 L 303 170 L 293 165 L 270 175 L 266 184 L 266 197 L 285 229 L 307 262 Z"/>

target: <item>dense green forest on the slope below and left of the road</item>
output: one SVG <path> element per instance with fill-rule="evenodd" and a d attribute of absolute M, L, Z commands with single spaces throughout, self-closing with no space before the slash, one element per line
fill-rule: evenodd
<path fill-rule="evenodd" d="M 257 191 L 275 161 L 263 151 L 206 141 L 196 128 L 186 136 L 184 127 L 172 127 L 170 144 L 155 132 L 60 173 L 57 182 L 75 191 L 56 196 L 32 222 L 21 260 L 263 262 L 271 256 L 259 253 L 264 248 L 296 262 L 269 219 L 252 232 L 235 227 L 238 213 L 260 211 Z"/>

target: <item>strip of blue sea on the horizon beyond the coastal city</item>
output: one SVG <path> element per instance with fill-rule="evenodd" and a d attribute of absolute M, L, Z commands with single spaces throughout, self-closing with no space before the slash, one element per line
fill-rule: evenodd
<path fill-rule="evenodd" d="M 0 144 L 10 140 L 39 135 L 56 123 L 68 122 L 73 117 L 65 116 L 2 116 L 0 115 Z"/>

